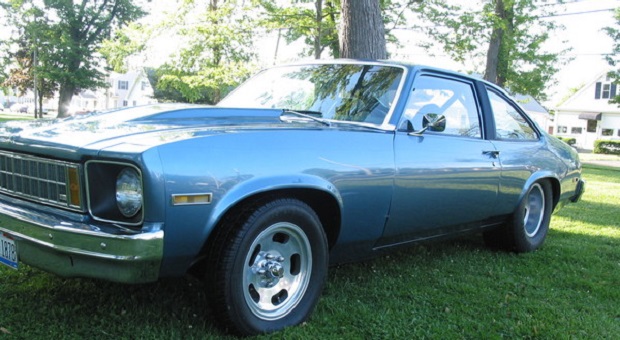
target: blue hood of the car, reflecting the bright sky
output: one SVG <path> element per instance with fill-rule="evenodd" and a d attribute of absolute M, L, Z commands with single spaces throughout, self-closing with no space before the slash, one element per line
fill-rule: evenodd
<path fill-rule="evenodd" d="M 281 125 L 281 110 L 161 104 L 47 121 L 13 121 L 0 126 L 10 149 L 139 151 L 162 143 L 230 129 Z M 122 150 L 119 150 L 122 151 Z"/>

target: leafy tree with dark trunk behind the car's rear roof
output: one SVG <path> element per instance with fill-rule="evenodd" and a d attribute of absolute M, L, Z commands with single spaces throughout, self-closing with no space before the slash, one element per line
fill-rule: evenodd
<path fill-rule="evenodd" d="M 432 23 L 427 46 L 439 43 L 467 71 L 482 72 L 486 80 L 514 93 L 545 99 L 565 52 L 543 49 L 557 29 L 546 19 L 554 7 L 539 6 L 536 0 L 480 0 L 480 7 L 451 3 L 428 0 L 420 5 L 422 17 Z"/>

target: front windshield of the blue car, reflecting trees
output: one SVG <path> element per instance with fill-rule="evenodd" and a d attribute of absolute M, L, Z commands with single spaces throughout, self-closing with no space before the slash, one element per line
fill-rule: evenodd
<path fill-rule="evenodd" d="M 381 124 L 403 76 L 399 67 L 354 64 L 268 69 L 218 106 L 295 110 L 323 119 Z"/>

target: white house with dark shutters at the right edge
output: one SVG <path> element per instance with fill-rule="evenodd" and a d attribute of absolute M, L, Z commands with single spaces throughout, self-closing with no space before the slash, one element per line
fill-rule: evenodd
<path fill-rule="evenodd" d="M 586 150 L 597 139 L 620 139 L 620 107 L 609 103 L 617 91 L 606 72 L 599 74 L 555 108 L 554 134 L 575 138 L 575 146 Z"/>

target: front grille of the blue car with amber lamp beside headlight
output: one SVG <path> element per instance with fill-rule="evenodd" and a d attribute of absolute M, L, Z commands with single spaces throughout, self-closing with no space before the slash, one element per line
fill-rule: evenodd
<path fill-rule="evenodd" d="M 83 210 L 78 164 L 0 151 L 0 192 Z"/>

